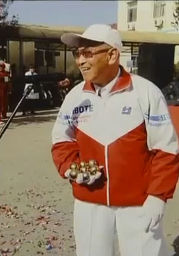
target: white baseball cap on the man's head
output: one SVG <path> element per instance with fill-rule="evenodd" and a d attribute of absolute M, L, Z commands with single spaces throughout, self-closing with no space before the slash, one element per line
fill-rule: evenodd
<path fill-rule="evenodd" d="M 78 47 L 80 39 L 82 38 L 106 43 L 118 49 L 118 51 L 121 51 L 122 49 L 120 32 L 104 24 L 94 24 L 88 27 L 82 35 L 75 33 L 64 33 L 61 36 L 61 41 L 70 47 Z"/>

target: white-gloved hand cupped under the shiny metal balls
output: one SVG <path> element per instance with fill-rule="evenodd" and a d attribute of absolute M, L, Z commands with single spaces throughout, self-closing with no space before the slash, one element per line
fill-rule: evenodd
<path fill-rule="evenodd" d="M 101 170 L 101 169 L 103 169 L 103 165 L 100 165 L 99 166 L 99 169 Z M 83 178 L 83 173 L 78 173 L 78 175 L 77 175 L 77 178 L 76 179 L 72 179 L 71 177 L 70 177 L 70 169 L 68 169 L 66 172 L 65 172 L 65 174 L 64 174 L 64 176 L 66 177 L 66 178 L 69 178 L 70 180 L 75 180 L 76 181 L 76 183 L 78 183 L 78 184 L 82 184 L 82 183 L 85 183 L 85 184 L 87 184 L 87 185 L 91 185 L 92 183 L 94 183 L 97 179 L 99 179 L 100 177 L 101 177 L 101 171 L 97 171 L 96 172 L 96 174 L 94 174 L 94 175 L 91 175 L 91 174 L 89 174 L 89 179 L 87 179 L 87 180 L 84 180 L 84 178 Z"/>

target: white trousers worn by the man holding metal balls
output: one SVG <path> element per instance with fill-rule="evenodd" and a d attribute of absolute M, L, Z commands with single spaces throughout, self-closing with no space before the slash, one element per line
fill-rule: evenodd
<path fill-rule="evenodd" d="M 169 256 L 162 223 L 152 232 L 142 227 L 143 207 L 108 207 L 79 201 L 74 205 L 77 256 L 114 256 L 117 229 L 121 256 Z"/>

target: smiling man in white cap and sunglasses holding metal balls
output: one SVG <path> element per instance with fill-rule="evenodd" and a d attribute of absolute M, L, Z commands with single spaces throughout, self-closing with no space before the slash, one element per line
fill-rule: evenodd
<path fill-rule="evenodd" d="M 162 234 L 167 199 L 178 179 L 178 141 L 161 91 L 119 63 L 120 33 L 92 25 L 61 40 L 74 48 L 84 81 L 66 96 L 55 122 L 53 161 L 75 197 L 77 256 L 168 256 Z M 103 167 L 88 180 L 72 162 Z"/>

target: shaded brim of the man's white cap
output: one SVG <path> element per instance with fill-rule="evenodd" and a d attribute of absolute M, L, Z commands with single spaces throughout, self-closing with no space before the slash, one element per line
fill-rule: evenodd
<path fill-rule="evenodd" d="M 94 40 L 92 38 L 87 38 L 83 35 L 75 34 L 75 33 L 65 33 L 61 36 L 60 39 L 61 39 L 62 43 L 64 43 L 65 45 L 68 45 L 69 47 L 78 47 L 80 45 L 81 39 L 101 42 L 101 41 Z"/>

